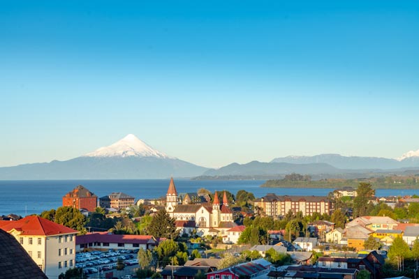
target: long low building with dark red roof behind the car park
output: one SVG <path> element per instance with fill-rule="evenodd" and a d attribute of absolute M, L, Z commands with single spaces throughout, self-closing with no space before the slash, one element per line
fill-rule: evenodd
<path fill-rule="evenodd" d="M 154 236 L 138 234 L 110 234 L 108 232 L 95 232 L 76 236 L 75 249 L 81 252 L 84 249 L 114 249 L 114 250 L 152 250 L 159 245 L 159 239 Z"/>

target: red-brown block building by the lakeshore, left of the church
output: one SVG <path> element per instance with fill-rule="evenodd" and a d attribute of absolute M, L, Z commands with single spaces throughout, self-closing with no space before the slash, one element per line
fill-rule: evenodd
<path fill-rule="evenodd" d="M 63 197 L 63 206 L 71 206 L 76 209 L 94 211 L 98 204 L 98 197 L 84 186 L 79 185 Z"/>

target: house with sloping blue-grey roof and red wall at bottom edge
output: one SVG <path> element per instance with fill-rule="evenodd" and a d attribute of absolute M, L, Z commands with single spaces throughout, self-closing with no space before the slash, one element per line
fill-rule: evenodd
<path fill-rule="evenodd" d="M 240 276 L 248 278 L 266 278 L 272 264 L 265 259 L 255 259 L 253 262 L 244 262 L 226 269 L 219 269 L 207 273 L 207 279 L 239 279 Z"/>

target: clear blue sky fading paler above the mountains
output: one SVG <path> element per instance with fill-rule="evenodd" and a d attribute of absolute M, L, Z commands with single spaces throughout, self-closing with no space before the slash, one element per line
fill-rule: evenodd
<path fill-rule="evenodd" d="M 0 166 L 419 149 L 418 1 L 3 1 Z"/>

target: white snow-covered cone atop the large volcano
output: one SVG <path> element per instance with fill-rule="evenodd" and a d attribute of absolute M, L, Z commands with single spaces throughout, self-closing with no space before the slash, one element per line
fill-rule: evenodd
<path fill-rule="evenodd" d="M 151 146 L 142 142 L 142 140 L 135 137 L 135 135 L 129 134 L 122 140 L 111 144 L 110 146 L 104 146 L 96 151 L 87 153 L 85 157 L 156 157 L 156 158 L 172 158 L 167 156 L 165 153 L 153 149 Z"/>

